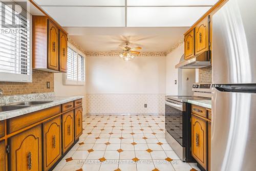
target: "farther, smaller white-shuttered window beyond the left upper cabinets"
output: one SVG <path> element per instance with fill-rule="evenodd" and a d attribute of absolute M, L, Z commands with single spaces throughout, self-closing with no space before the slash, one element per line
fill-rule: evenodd
<path fill-rule="evenodd" d="M 65 84 L 83 85 L 86 81 L 85 58 L 68 47 L 68 62 Z"/>

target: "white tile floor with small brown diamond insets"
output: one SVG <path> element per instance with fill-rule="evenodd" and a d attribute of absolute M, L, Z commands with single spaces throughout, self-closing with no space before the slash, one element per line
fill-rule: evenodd
<path fill-rule="evenodd" d="M 189 171 L 164 138 L 164 116 L 87 116 L 79 142 L 54 170 Z"/>

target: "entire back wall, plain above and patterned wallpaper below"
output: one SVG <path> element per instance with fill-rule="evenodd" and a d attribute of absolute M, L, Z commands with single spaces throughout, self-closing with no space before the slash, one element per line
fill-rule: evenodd
<path fill-rule="evenodd" d="M 163 114 L 165 61 L 165 57 L 132 61 L 87 57 L 87 113 Z"/>

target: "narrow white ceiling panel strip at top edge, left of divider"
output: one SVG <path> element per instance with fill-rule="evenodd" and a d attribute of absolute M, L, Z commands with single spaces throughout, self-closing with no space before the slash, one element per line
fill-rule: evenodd
<path fill-rule="evenodd" d="M 124 6 L 125 0 L 34 0 L 38 5 L 50 6 Z"/>

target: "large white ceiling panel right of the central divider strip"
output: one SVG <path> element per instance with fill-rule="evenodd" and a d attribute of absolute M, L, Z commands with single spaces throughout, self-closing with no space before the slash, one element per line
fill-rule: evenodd
<path fill-rule="evenodd" d="M 128 7 L 127 27 L 190 27 L 210 7 Z"/>

